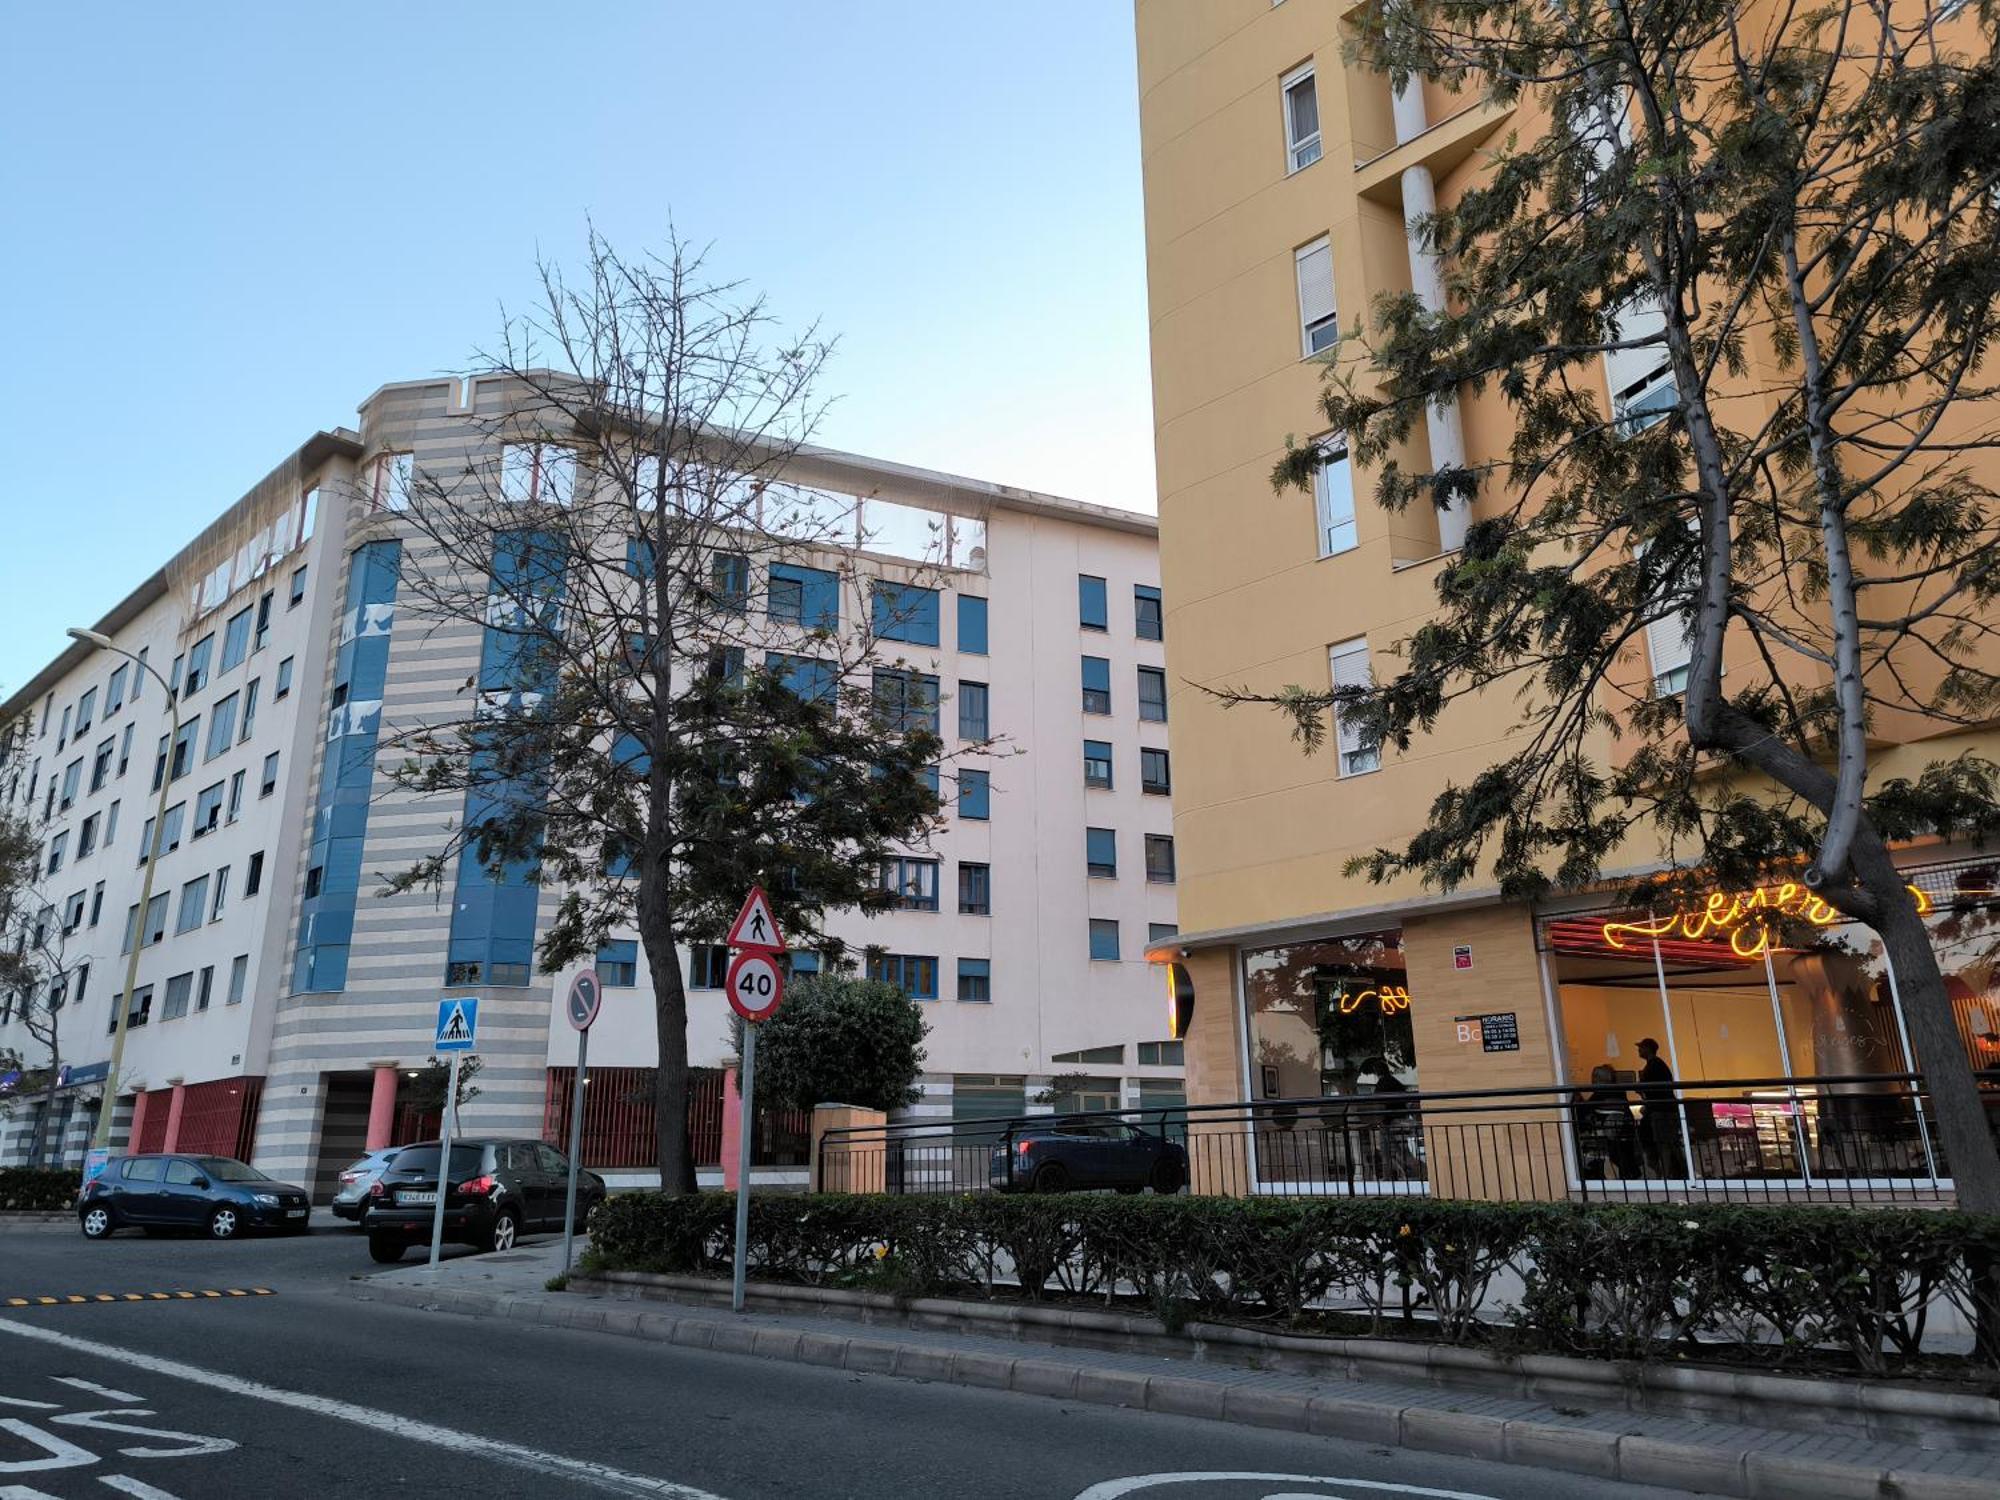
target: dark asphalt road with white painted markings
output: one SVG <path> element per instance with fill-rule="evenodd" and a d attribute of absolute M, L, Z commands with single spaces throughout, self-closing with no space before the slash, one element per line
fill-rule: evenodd
<path fill-rule="evenodd" d="M 340 1292 L 374 1270 L 352 1230 L 240 1244 L 0 1230 L 0 1500 L 1672 1494 Z M 152 1298 L 250 1288 L 270 1294 Z M 6 1308 L 72 1294 L 146 1300 Z"/>

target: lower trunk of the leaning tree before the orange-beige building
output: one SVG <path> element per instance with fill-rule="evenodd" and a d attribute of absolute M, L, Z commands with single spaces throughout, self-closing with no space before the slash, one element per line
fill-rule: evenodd
<path fill-rule="evenodd" d="M 1858 868 L 1856 874 L 1864 872 Z M 1892 892 L 1874 890 L 1866 874 L 1864 884 L 1882 908 L 1874 930 L 1896 970 L 1902 1018 L 1910 1028 L 1910 1048 L 1930 1092 L 1930 1114 L 1958 1188 L 1958 1206 L 1972 1214 L 2000 1214 L 2000 1154 L 1994 1150 L 1992 1124 L 1986 1120 L 1986 1100 L 1966 1060 L 1952 998 L 1944 990 L 1944 970 L 1938 968 L 1938 954 L 1930 946 L 1924 918 L 1918 916 L 1916 898 L 1900 884 L 1900 876 Z"/>

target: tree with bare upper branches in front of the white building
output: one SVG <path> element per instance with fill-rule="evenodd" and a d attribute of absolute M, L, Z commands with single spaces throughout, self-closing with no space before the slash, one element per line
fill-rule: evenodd
<path fill-rule="evenodd" d="M 792 480 L 828 346 L 772 342 L 762 300 L 680 240 L 628 260 L 592 236 L 580 282 L 540 270 L 540 306 L 474 372 L 486 440 L 392 500 L 402 608 L 486 642 L 462 708 L 388 738 L 402 786 L 466 806 L 392 888 L 458 862 L 554 884 L 544 970 L 636 922 L 660 1180 L 692 1190 L 676 944 L 720 940 L 752 884 L 794 946 L 836 950 L 828 912 L 896 904 L 878 866 L 938 816 L 938 690 L 888 654 L 920 596 L 864 576 L 858 496 Z"/>

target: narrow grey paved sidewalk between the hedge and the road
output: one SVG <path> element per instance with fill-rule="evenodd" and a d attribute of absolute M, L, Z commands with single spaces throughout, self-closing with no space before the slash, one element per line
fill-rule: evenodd
<path fill-rule="evenodd" d="M 856 1326 L 774 1314 L 548 1292 L 562 1240 L 462 1256 L 436 1274 L 396 1268 L 348 1284 L 358 1298 L 512 1318 L 718 1354 L 946 1380 L 1030 1396 L 1282 1428 L 1356 1442 L 1560 1468 L 1752 1500 L 1992 1500 L 2000 1454 L 1964 1454 L 1634 1412 L 1550 1406 L 1416 1384 L 1320 1380 L 1194 1360 L 1034 1346 L 1010 1338 Z M 726 1288 L 724 1288 L 726 1290 Z"/>

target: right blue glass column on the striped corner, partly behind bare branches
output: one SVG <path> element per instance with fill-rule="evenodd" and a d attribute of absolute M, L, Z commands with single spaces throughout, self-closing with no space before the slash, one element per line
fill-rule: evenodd
<path fill-rule="evenodd" d="M 486 638 L 480 646 L 482 712 L 532 714 L 554 676 L 542 660 L 540 632 L 514 624 L 526 610 L 554 610 L 562 600 L 564 556 L 546 532 L 510 532 L 494 544 Z M 474 754 L 476 770 L 492 762 Z M 506 822 L 538 798 L 524 776 L 492 780 L 466 792 L 468 840 L 458 852 L 452 894 L 452 936 L 444 956 L 446 984 L 528 984 L 534 976 L 534 918 L 542 888 L 540 858 L 522 854 L 488 868 L 478 854 L 478 828 Z"/>

